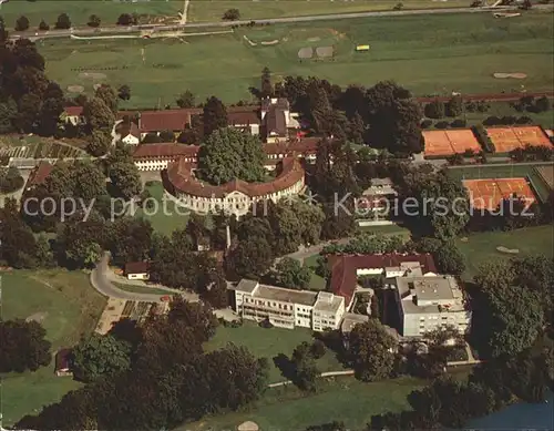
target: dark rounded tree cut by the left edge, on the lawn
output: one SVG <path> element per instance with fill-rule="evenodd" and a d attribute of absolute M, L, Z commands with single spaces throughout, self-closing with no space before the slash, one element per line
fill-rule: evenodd
<path fill-rule="evenodd" d="M 0 372 L 37 371 L 52 360 L 47 331 L 34 320 L 0 320 Z"/>

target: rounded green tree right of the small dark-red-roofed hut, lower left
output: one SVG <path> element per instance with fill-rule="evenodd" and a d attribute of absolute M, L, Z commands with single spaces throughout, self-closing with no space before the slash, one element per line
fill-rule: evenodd
<path fill-rule="evenodd" d="M 131 345 L 111 335 L 94 332 L 72 350 L 72 356 L 74 376 L 85 382 L 123 372 L 131 367 Z"/>

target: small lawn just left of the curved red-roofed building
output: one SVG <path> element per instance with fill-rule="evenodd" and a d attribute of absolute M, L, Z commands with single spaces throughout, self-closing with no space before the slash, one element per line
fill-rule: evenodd
<path fill-rule="evenodd" d="M 146 212 L 140 208 L 135 216 L 148 219 L 154 230 L 162 234 L 171 235 L 173 230 L 184 229 L 188 222 L 188 209 L 182 207 L 176 208 L 174 202 L 165 199 L 164 211 L 164 203 L 162 202 L 164 186 L 161 182 L 153 182 L 146 185 L 146 188 L 151 196 L 158 202 L 157 211 L 155 211 L 155 207 L 146 209 Z"/>

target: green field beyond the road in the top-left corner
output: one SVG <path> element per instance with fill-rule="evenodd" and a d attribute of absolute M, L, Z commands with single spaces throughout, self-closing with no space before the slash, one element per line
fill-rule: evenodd
<path fill-rule="evenodd" d="M 122 13 L 136 13 L 143 22 L 156 22 L 175 19 L 183 11 L 184 1 L 166 0 L 76 0 L 76 1 L 28 1 L 10 0 L 3 3 L 0 14 L 3 17 L 7 30 L 13 32 L 16 20 L 24 14 L 29 19 L 30 29 L 37 29 L 43 19 L 51 29 L 60 13 L 70 17 L 73 27 L 85 27 L 91 14 L 101 19 L 101 27 L 114 25 Z"/>

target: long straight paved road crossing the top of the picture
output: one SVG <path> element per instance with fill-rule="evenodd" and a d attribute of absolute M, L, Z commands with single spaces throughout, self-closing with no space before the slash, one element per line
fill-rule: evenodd
<path fill-rule="evenodd" d="M 534 9 L 551 10 L 552 4 L 537 4 Z M 494 11 L 513 10 L 516 7 L 495 8 Z M 254 20 L 256 23 L 284 23 L 284 22 L 312 22 L 312 21 L 335 21 L 342 19 L 355 18 L 371 18 L 371 17 L 403 17 L 417 14 L 443 14 L 443 13 L 480 13 L 491 12 L 488 8 L 442 8 L 442 9 L 420 9 L 420 10 L 400 10 L 400 11 L 379 11 L 379 12 L 356 12 L 356 13 L 332 13 L 306 17 L 289 17 L 289 18 L 270 18 Z M 186 24 L 153 24 L 153 25 L 129 25 L 129 27 L 105 27 L 99 29 L 91 28 L 74 28 L 69 30 L 49 30 L 49 31 L 24 31 L 11 32 L 10 39 L 31 38 L 31 39 L 52 39 L 52 38 L 68 38 L 74 35 L 101 35 L 102 33 L 122 34 L 135 33 L 141 30 L 155 29 L 156 31 L 177 31 L 192 28 L 214 28 L 214 27 L 232 27 L 248 24 L 252 20 L 240 21 L 216 21 L 216 22 L 188 22 Z"/>

